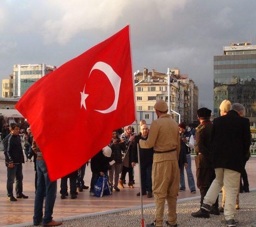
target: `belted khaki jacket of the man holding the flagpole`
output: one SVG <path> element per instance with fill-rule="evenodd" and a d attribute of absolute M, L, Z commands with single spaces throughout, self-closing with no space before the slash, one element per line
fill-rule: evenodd
<path fill-rule="evenodd" d="M 176 149 L 168 153 L 154 154 L 153 162 L 178 160 L 180 153 L 180 131 L 177 122 L 171 118 L 170 114 L 162 114 L 157 120 L 152 122 L 148 139 L 140 140 L 140 147 L 154 147 L 155 151 Z"/>

